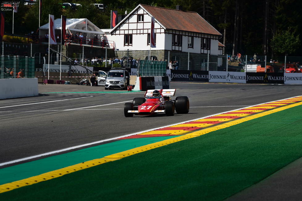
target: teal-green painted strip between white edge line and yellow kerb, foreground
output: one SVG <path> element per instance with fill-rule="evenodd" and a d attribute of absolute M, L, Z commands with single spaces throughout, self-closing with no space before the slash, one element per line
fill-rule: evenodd
<path fill-rule="evenodd" d="M 0 185 L 177 136 L 123 139 L 0 169 Z"/>

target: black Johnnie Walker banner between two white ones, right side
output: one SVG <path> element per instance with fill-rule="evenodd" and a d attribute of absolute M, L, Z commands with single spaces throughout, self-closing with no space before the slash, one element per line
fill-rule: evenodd
<path fill-rule="evenodd" d="M 284 73 L 246 73 L 246 83 L 284 84 Z"/>

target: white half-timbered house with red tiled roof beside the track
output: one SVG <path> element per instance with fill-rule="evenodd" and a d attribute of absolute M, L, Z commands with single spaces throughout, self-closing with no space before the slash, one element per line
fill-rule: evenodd
<path fill-rule="evenodd" d="M 143 4 L 107 32 L 108 40 L 115 41 L 119 57 L 129 50 L 134 58 L 148 59 L 151 16 L 155 18 L 156 42 L 151 56 L 158 60 L 178 60 L 180 69 L 190 70 L 201 70 L 208 54 L 210 62 L 217 62 L 221 34 L 198 13 Z"/>

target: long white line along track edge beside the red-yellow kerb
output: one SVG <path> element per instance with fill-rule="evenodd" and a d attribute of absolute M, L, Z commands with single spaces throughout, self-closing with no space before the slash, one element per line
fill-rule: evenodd
<path fill-rule="evenodd" d="M 298 97 L 298 96 L 294 96 L 294 97 L 290 97 L 290 98 L 295 98 L 295 97 Z M 283 100 L 290 99 L 290 98 L 284 98 L 284 99 L 277 100 L 277 101 L 283 101 Z M 270 101 L 270 102 L 275 102 L 275 101 Z M 266 102 L 266 103 L 270 103 L 270 102 Z M 257 104 L 257 105 L 262 105 L 262 104 L 266 104 L 266 103 L 260 103 L 260 104 Z M 254 106 L 257 106 L 257 105 L 251 105 L 251 106 L 248 106 L 248 107 L 254 107 Z M 240 109 L 245 109 L 245 108 L 248 108 L 248 107 L 244 107 L 244 108 L 240 108 Z M 11 160 L 11 161 L 8 161 L 8 162 L 5 162 L 5 163 L 0 163 L 0 166 L 9 165 L 9 164 L 13 164 L 13 163 L 18 163 L 18 162 L 22 162 L 24 160 L 30 160 L 30 159 L 34 159 L 34 158 L 38 158 L 38 157 L 42 157 L 42 156 L 48 156 L 48 155 L 55 154 L 55 153 L 70 151 L 70 150 L 77 149 L 77 148 L 82 148 L 82 147 L 86 147 L 86 146 L 90 146 L 90 145 L 94 145 L 94 144 L 98 144 L 98 143 L 103 143 L 103 142 L 107 142 L 107 141 L 111 141 L 111 140 L 115 140 L 115 139 L 119 139 L 119 138 L 124 138 L 124 137 L 132 136 L 132 135 L 137 135 L 137 134 L 141 134 L 141 133 L 145 133 L 145 132 L 148 132 L 148 131 L 157 130 L 157 129 L 161 129 L 161 128 L 165 128 L 165 127 L 169 127 L 169 126 L 175 126 L 175 125 L 182 124 L 182 123 L 196 121 L 196 120 L 199 120 L 199 119 L 203 119 L 203 118 L 207 118 L 207 117 L 212 117 L 214 115 L 218 115 L 218 114 L 222 114 L 222 113 L 227 113 L 227 112 L 232 112 L 232 111 L 236 111 L 236 110 L 239 110 L 239 109 L 234 109 L 234 110 L 230 110 L 230 111 L 226 111 L 226 112 L 212 114 L 212 115 L 209 115 L 209 116 L 206 116 L 206 117 L 196 118 L 196 119 L 188 120 L 188 121 L 185 121 L 185 122 L 179 122 L 179 123 L 175 123 L 175 124 L 170 124 L 170 125 L 167 125 L 167 126 L 161 126 L 161 127 L 157 127 L 157 128 L 152 128 L 152 129 L 148 129 L 148 130 L 144 130 L 144 131 L 140 131 L 140 132 L 136 132 L 136 133 L 132 133 L 132 134 L 128 134 L 128 135 L 122 135 L 122 136 L 115 137 L 115 138 L 104 139 L 104 140 L 99 140 L 99 141 L 96 141 L 96 142 L 81 144 L 81 145 L 78 145 L 78 146 L 69 147 L 69 148 L 65 148 L 65 149 L 60 149 L 60 150 L 56 150 L 56 151 L 52 151 L 52 152 L 47 152 L 47 153 L 43 153 L 43 154 L 38 154 L 38 155 L 35 155 L 35 156 L 29 156 L 29 157 L 20 158 L 20 159 L 17 159 L 17 160 Z"/>

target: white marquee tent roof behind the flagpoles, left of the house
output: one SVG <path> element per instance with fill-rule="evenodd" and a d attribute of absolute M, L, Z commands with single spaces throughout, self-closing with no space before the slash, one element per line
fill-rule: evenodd
<path fill-rule="evenodd" d="M 55 19 L 54 25 L 55 25 L 56 36 L 61 35 L 61 18 Z M 41 26 L 39 29 L 40 36 L 45 36 L 45 34 L 48 34 L 48 28 L 49 28 L 48 23 Z M 73 35 L 75 35 L 78 32 L 78 33 L 82 33 L 83 36 L 87 38 L 97 37 L 98 39 L 100 39 L 101 36 L 104 34 L 104 32 L 100 28 L 95 26 L 92 22 L 90 22 L 86 18 L 66 19 L 66 32 L 69 32 L 68 30 L 72 32 Z"/>

